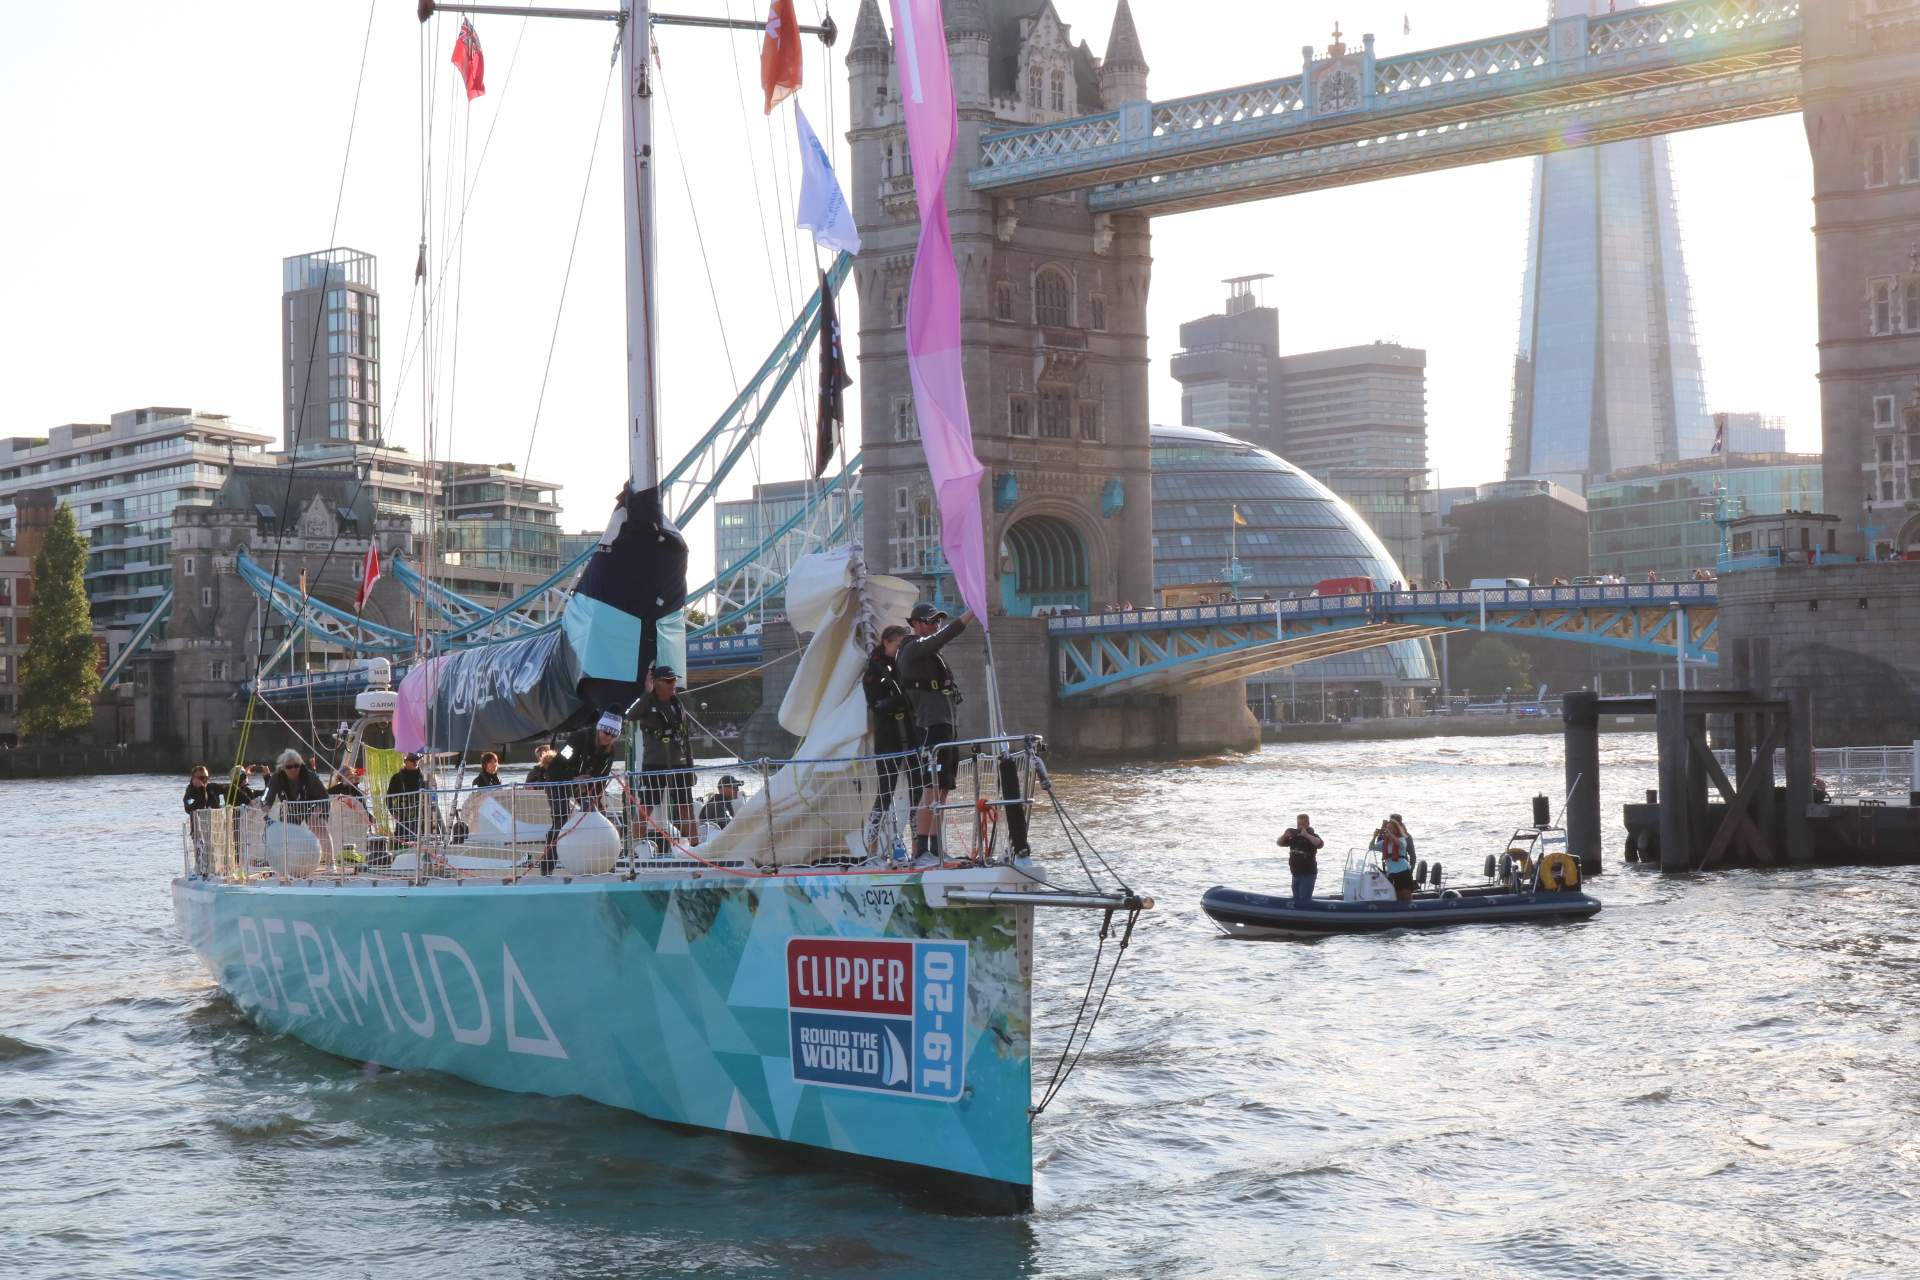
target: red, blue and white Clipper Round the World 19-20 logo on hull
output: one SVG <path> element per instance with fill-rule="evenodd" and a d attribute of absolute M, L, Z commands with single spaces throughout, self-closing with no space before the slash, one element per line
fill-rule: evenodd
<path fill-rule="evenodd" d="M 787 940 L 793 1079 L 952 1102 L 966 1088 L 966 942 Z"/>

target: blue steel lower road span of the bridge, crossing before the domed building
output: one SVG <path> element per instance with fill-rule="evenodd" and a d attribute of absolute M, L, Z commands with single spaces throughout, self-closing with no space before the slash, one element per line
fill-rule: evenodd
<path fill-rule="evenodd" d="M 1716 664 L 1718 583 L 1373 591 L 1052 618 L 1062 697 L 1210 685 L 1394 641 L 1494 631 Z M 1680 637 L 1684 629 L 1684 637 Z"/>

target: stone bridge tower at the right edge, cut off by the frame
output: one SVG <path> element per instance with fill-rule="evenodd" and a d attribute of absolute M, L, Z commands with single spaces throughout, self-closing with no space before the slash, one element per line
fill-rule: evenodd
<path fill-rule="evenodd" d="M 1839 547 L 1920 545 L 1920 8 L 1809 4 L 1826 509 Z"/>

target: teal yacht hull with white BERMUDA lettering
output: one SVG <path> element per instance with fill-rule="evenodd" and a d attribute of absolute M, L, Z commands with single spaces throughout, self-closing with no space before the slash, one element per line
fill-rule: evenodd
<path fill-rule="evenodd" d="M 179 879 L 263 1029 L 1033 1203 L 1031 908 L 914 875 L 426 887 Z"/>

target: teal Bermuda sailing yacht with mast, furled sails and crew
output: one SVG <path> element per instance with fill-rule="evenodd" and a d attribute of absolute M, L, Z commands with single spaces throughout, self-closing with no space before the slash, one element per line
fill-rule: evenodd
<path fill-rule="evenodd" d="M 902 2 L 939 31 L 937 0 Z M 1098 977 L 1152 900 L 1066 814 L 1039 739 L 995 723 L 954 745 L 947 804 L 920 794 L 918 756 L 872 754 L 860 674 L 916 589 L 870 574 L 858 545 L 803 558 L 785 583 L 812 633 L 780 710 L 804 758 L 730 766 L 747 777 L 724 810 L 687 821 L 676 789 L 716 781 L 699 770 L 390 787 L 386 743 L 430 754 L 620 716 L 685 601 L 659 480 L 645 33 L 743 25 L 651 15 L 645 0 L 616 13 L 422 0 L 422 21 L 436 10 L 622 25 L 628 484 L 561 629 L 422 654 L 397 689 L 372 664 L 342 760 L 369 766 L 365 794 L 190 816 L 179 925 L 259 1027 L 330 1054 L 578 1094 L 1029 1209 L 1033 1121 L 1100 1013 L 1083 1004 L 1037 1100 L 1035 912 L 1098 913 Z M 933 852 L 908 852 L 929 823 Z M 1100 871 L 1054 885 L 1052 854 Z M 1112 971 L 1087 992 L 1110 984 Z"/>

